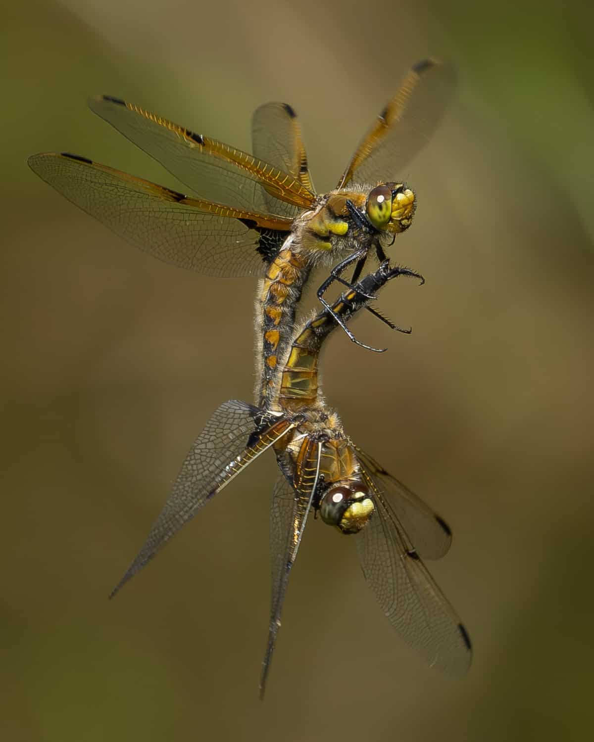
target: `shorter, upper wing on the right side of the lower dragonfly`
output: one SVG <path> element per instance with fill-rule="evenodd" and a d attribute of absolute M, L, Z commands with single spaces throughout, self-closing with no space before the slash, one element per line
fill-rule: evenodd
<path fill-rule="evenodd" d="M 446 521 L 368 453 L 357 446 L 355 449 L 363 464 L 363 475 L 371 479 L 373 490 L 382 493 L 385 508 L 401 525 L 413 548 L 422 559 L 443 557 L 451 545 L 451 530 Z"/>

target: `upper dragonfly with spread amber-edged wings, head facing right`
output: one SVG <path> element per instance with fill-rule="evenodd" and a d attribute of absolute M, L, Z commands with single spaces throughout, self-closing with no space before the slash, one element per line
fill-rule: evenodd
<path fill-rule="evenodd" d="M 253 114 L 249 154 L 114 96 L 89 101 L 91 111 L 160 162 L 189 194 L 75 154 L 35 154 L 28 163 L 76 206 L 166 263 L 217 277 L 260 278 L 261 407 L 278 395 L 276 367 L 290 345 L 312 270 L 339 260 L 317 291 L 332 312 L 324 298 L 329 286 L 352 285 L 368 255 L 385 260 L 385 249 L 411 226 L 417 200 L 397 174 L 428 141 L 455 82 L 448 63 L 425 59 L 414 65 L 337 187 L 323 194 L 313 188 L 296 113 L 278 102 Z M 342 276 L 349 266 L 347 281 Z M 339 315 L 335 320 L 353 342 L 385 350 L 358 341 Z"/>

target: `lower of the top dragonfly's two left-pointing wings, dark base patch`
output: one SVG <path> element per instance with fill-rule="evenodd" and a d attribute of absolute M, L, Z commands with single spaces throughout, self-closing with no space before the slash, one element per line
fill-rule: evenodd
<path fill-rule="evenodd" d="M 187 197 L 71 154 L 35 154 L 30 168 L 69 201 L 165 263 L 213 276 L 260 275 L 290 220 Z"/>

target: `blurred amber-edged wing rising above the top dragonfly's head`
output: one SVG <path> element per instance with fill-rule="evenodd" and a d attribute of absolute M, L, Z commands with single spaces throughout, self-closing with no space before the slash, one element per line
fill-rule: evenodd
<path fill-rule="evenodd" d="M 401 178 L 402 168 L 425 145 L 440 122 L 456 79 L 456 70 L 447 62 L 417 62 L 365 134 L 339 188 L 351 181 L 377 183 Z"/>

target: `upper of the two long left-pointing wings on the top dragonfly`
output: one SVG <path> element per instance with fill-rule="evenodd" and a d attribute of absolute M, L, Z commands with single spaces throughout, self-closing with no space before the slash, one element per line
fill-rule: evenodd
<path fill-rule="evenodd" d="M 119 98 L 97 96 L 88 105 L 200 197 L 248 211 L 267 211 L 265 193 L 300 209 L 313 204 L 296 177 L 247 152 Z"/>

